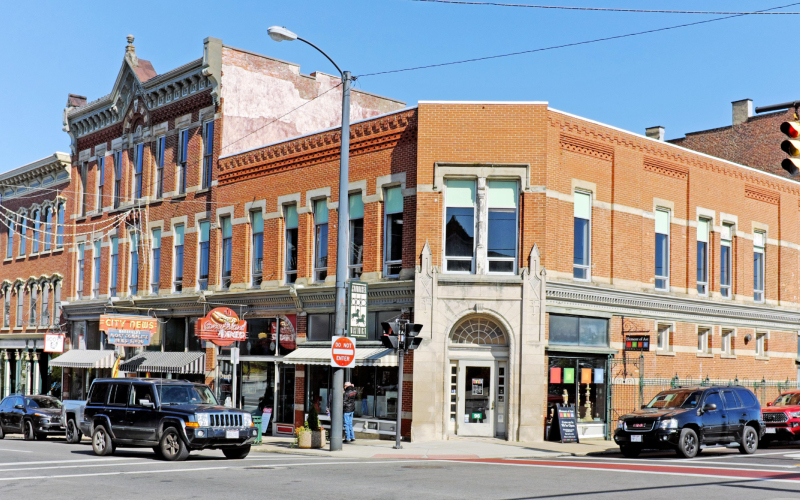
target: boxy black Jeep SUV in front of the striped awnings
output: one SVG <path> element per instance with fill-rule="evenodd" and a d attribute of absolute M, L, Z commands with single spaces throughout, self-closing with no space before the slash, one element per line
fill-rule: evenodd
<path fill-rule="evenodd" d="M 208 448 L 244 458 L 258 436 L 249 413 L 220 406 L 206 385 L 174 379 L 95 379 L 79 427 L 97 455 L 152 447 L 166 460 Z"/>

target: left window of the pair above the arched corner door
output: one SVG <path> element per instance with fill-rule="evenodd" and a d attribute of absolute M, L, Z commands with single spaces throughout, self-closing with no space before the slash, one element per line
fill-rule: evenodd
<path fill-rule="evenodd" d="M 471 273 L 475 257 L 475 181 L 449 179 L 445 186 L 445 270 Z"/>

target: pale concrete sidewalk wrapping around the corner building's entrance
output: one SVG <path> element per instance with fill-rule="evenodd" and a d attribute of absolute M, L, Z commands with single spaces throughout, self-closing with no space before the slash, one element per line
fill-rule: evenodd
<path fill-rule="evenodd" d="M 341 451 L 329 446 L 319 450 L 294 448 L 294 438 L 264 436 L 264 443 L 253 451 L 346 458 L 554 458 L 619 452 L 613 441 L 587 439 L 581 443 L 515 443 L 489 438 L 451 438 L 447 441 L 403 442 L 402 450 L 394 449 L 394 441 L 357 439 L 343 443 Z"/>

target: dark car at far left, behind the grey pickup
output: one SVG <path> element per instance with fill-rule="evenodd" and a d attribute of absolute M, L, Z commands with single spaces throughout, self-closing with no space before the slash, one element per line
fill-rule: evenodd
<path fill-rule="evenodd" d="M 6 434 L 22 434 L 26 441 L 63 435 L 61 401 L 51 396 L 7 396 L 0 402 L 0 439 Z"/>

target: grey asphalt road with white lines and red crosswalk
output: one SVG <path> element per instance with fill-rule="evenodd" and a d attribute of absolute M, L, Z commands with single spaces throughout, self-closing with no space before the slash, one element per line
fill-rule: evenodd
<path fill-rule="evenodd" d="M 756 455 L 705 450 L 548 460 L 392 460 L 253 452 L 227 460 L 193 452 L 164 462 L 152 451 L 118 449 L 97 457 L 87 440 L 0 441 L 0 499 L 800 498 L 800 446 Z"/>

